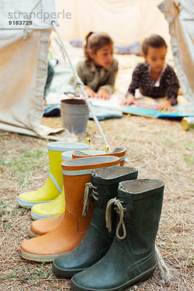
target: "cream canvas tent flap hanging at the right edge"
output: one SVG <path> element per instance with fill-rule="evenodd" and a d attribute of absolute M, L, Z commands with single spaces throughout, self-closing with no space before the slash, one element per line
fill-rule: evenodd
<path fill-rule="evenodd" d="M 164 0 L 159 8 L 169 23 L 172 53 L 183 95 L 194 105 L 194 1 Z"/>

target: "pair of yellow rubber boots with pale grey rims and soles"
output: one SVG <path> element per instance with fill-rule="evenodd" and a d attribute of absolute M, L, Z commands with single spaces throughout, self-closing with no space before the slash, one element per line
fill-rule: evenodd
<path fill-rule="evenodd" d="M 74 150 L 88 150 L 89 145 L 82 143 L 52 142 L 48 145 L 49 178 L 38 190 L 22 193 L 18 196 L 18 204 L 23 208 L 32 208 L 32 219 L 41 219 L 60 215 L 65 211 L 63 175 L 61 169 L 62 153 Z M 65 160 L 71 159 L 68 154 Z"/>

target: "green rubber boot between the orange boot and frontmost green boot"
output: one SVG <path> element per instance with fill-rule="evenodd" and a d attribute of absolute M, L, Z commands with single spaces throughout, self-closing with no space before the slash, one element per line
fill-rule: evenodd
<path fill-rule="evenodd" d="M 115 235 L 115 227 L 109 233 L 106 227 L 105 213 L 108 201 L 116 196 L 120 181 L 137 178 L 138 171 L 131 167 L 102 168 L 92 172 L 92 190 L 94 200 L 93 216 L 86 235 L 72 251 L 64 253 L 53 262 L 53 270 L 63 277 L 71 277 L 85 270 L 101 259 L 109 250 Z M 87 188 L 86 188 L 87 189 Z M 85 192 L 85 215 L 89 207 L 88 191 Z M 113 211 L 113 224 L 116 226 L 116 213 Z"/>

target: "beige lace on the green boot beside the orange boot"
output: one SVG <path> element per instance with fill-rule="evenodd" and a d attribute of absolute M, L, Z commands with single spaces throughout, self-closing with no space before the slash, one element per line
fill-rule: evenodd
<path fill-rule="evenodd" d="M 86 217 L 88 214 L 92 198 L 96 201 L 99 201 L 99 198 L 97 198 L 99 194 L 95 190 L 97 190 L 97 187 L 94 186 L 91 182 L 85 184 L 85 193 L 84 193 L 84 198 L 83 198 L 83 211 L 82 211 L 83 217 Z"/>

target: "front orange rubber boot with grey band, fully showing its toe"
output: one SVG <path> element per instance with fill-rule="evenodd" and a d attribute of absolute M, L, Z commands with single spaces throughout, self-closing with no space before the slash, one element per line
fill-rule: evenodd
<path fill-rule="evenodd" d="M 92 207 L 82 217 L 85 184 L 91 182 L 91 172 L 120 164 L 120 158 L 97 156 L 62 162 L 65 188 L 65 214 L 60 225 L 40 237 L 20 245 L 21 256 L 32 261 L 53 261 L 59 254 L 74 249 L 84 237 L 91 221 Z"/>

